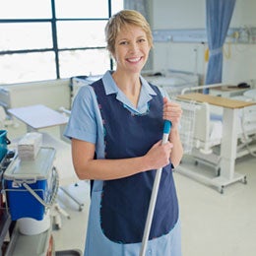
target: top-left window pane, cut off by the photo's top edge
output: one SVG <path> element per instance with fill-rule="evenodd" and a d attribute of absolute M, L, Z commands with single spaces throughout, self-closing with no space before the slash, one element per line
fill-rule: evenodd
<path fill-rule="evenodd" d="M 51 0 L 4 0 L 1 1 L 1 19 L 51 18 Z"/>

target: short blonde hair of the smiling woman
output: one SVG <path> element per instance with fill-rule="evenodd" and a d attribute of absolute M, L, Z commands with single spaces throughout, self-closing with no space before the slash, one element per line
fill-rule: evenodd
<path fill-rule="evenodd" d="M 145 17 L 134 10 L 122 10 L 113 15 L 105 26 L 106 48 L 111 54 L 115 52 L 114 45 L 118 32 L 127 25 L 134 25 L 141 28 L 146 33 L 150 47 L 153 46 L 151 28 Z"/>

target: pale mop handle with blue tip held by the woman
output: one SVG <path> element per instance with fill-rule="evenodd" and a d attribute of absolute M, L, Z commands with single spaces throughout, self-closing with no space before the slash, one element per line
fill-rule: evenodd
<path fill-rule="evenodd" d="M 161 144 L 165 144 L 168 141 L 170 128 L 171 128 L 171 122 L 164 120 Z M 150 235 L 150 231 L 151 231 L 152 219 L 153 219 L 155 206 L 156 206 L 156 202 L 157 202 L 157 197 L 158 197 L 158 192 L 159 192 L 159 187 L 160 187 L 161 169 L 162 168 L 159 168 L 157 170 L 156 177 L 154 180 L 147 221 L 146 221 L 144 234 L 143 234 L 140 256 L 145 256 L 145 254 L 146 254 L 147 243 L 148 243 L 148 239 L 149 239 L 149 235 Z"/>

